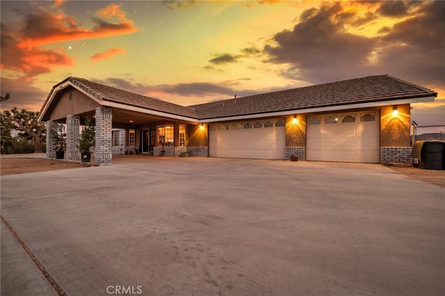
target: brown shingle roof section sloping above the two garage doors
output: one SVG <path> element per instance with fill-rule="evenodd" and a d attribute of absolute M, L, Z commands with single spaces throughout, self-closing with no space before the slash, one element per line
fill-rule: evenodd
<path fill-rule="evenodd" d="M 211 119 L 436 96 L 437 92 L 385 74 L 255 94 L 190 107 L 196 110 L 200 118 Z"/>

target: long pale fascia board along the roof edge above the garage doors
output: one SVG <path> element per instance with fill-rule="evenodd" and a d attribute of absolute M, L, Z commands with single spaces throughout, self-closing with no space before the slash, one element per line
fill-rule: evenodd
<path fill-rule="evenodd" d="M 305 114 L 305 113 L 318 113 L 318 112 L 326 112 L 326 111 L 356 109 L 356 108 L 371 108 L 371 107 L 378 107 L 378 106 L 421 103 L 421 102 L 426 102 L 426 101 L 434 101 L 434 99 L 435 99 L 435 97 L 397 99 L 397 100 L 391 100 L 391 101 L 378 101 L 378 102 L 370 102 L 370 103 L 362 103 L 362 104 L 348 104 L 348 105 L 339 105 L 339 106 L 327 106 L 327 107 L 318 107 L 318 108 L 277 111 L 277 112 L 270 112 L 270 113 L 209 118 L 207 120 L 202 119 L 199 122 L 200 123 L 209 123 L 209 122 L 222 122 L 222 121 L 230 121 L 230 120 L 252 120 L 255 118 L 263 118 L 263 117 L 275 117 L 275 116 L 296 115 L 296 114 Z"/>

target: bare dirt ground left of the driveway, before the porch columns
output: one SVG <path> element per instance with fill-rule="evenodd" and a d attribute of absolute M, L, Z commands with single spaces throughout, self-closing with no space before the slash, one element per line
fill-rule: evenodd
<path fill-rule="evenodd" d="M 70 163 L 67 161 L 56 161 L 45 158 L 0 158 L 0 173 L 23 174 L 26 172 L 44 172 L 54 170 L 72 169 L 75 167 L 86 167 L 81 163 Z"/>

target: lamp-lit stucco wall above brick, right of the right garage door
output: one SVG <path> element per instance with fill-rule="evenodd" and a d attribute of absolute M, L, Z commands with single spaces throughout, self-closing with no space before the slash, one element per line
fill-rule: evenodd
<path fill-rule="evenodd" d="M 393 115 L 397 107 L 398 115 Z M 382 106 L 380 109 L 380 147 L 410 146 L 410 104 Z"/>

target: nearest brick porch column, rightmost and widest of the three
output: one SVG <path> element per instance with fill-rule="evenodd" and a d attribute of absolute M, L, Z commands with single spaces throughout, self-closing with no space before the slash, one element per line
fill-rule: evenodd
<path fill-rule="evenodd" d="M 97 107 L 95 158 L 98 165 L 111 164 L 112 123 L 113 115 L 111 114 L 111 108 Z"/>

